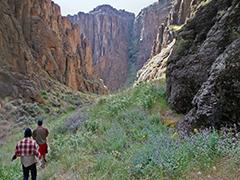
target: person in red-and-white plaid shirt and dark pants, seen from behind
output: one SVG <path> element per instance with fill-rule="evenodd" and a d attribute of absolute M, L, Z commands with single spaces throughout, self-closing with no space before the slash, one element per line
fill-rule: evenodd
<path fill-rule="evenodd" d="M 32 130 L 26 128 L 24 131 L 24 139 L 19 141 L 16 145 L 15 154 L 12 161 L 21 157 L 21 164 L 23 169 L 23 180 L 28 180 L 29 171 L 31 171 L 32 180 L 37 179 L 37 158 L 40 157 L 38 152 L 38 145 L 32 138 Z"/>

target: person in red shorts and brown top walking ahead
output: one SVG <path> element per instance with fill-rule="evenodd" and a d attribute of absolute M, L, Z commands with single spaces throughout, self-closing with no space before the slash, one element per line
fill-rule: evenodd
<path fill-rule="evenodd" d="M 33 139 L 36 140 L 39 146 L 40 159 L 43 158 L 43 163 L 46 163 L 46 153 L 48 151 L 47 137 L 49 132 L 47 128 L 42 126 L 42 120 L 38 120 L 37 125 L 38 127 L 33 131 Z"/>

